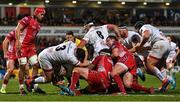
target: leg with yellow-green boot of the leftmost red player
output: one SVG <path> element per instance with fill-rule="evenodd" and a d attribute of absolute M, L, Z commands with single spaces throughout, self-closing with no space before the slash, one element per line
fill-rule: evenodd
<path fill-rule="evenodd" d="M 6 70 L 6 74 L 4 75 L 4 78 L 3 78 L 3 83 L 2 83 L 1 90 L 0 90 L 1 93 L 6 93 L 6 86 L 8 84 L 11 73 L 14 70 L 14 63 L 15 63 L 15 61 L 13 59 L 8 59 L 6 62 L 7 70 Z"/>

